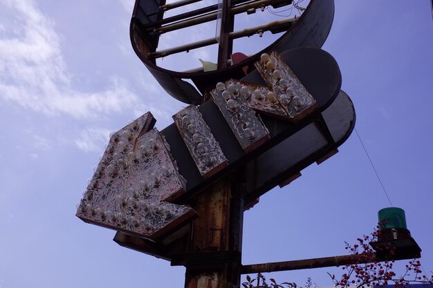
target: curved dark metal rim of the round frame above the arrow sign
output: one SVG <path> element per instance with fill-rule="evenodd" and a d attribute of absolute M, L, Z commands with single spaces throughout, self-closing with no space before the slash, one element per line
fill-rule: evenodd
<path fill-rule="evenodd" d="M 243 3 L 245 0 L 233 1 Z M 159 35 L 154 33 L 163 23 L 165 0 L 136 0 L 130 26 L 131 44 L 143 64 L 149 69 L 158 83 L 172 97 L 186 104 L 201 104 L 206 90 L 214 88 L 217 82 L 228 79 L 241 79 L 245 76 L 243 67 L 253 68 L 253 64 L 264 52 L 284 52 L 291 48 L 309 46 L 320 48 L 329 35 L 334 15 L 334 0 L 311 0 L 308 7 L 293 25 L 273 44 L 255 55 L 232 66 L 204 72 L 177 72 L 156 65 L 156 48 Z M 184 79 L 191 79 L 192 84 Z"/>

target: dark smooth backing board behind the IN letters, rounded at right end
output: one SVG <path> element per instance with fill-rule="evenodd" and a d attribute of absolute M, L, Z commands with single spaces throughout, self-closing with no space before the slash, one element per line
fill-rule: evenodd
<path fill-rule="evenodd" d="M 300 79 L 308 92 L 315 98 L 319 106 L 316 113 L 324 111 L 334 101 L 340 91 L 341 75 L 335 59 L 328 52 L 317 48 L 288 50 L 281 57 L 293 70 L 297 78 Z M 248 74 L 240 82 L 256 86 L 255 83 L 260 79 L 261 84 L 257 84 L 257 87 L 267 87 L 266 82 L 257 70 L 254 73 Z M 199 111 L 206 124 L 210 127 L 216 141 L 219 142 L 225 157 L 230 162 L 230 166 L 227 167 L 229 170 L 223 169 L 218 175 L 227 175 L 231 171 L 239 169 L 246 162 L 250 161 L 252 157 L 257 156 L 255 153 L 261 153 L 261 148 L 259 148 L 253 151 L 253 153 L 245 155 L 245 151 L 243 151 L 237 137 L 232 133 L 228 122 L 213 101 L 201 104 Z M 271 139 L 265 144 L 266 146 L 269 145 L 268 147 L 281 142 L 286 137 L 291 137 L 293 133 L 302 129 L 308 122 L 313 121 L 318 116 L 313 113 L 293 124 L 287 120 L 282 121 L 282 117 L 278 117 L 275 113 L 272 118 L 268 117 L 270 112 L 264 113 L 257 110 L 257 113 L 261 115 L 261 119 L 270 133 Z M 165 128 L 161 133 L 165 135 L 170 146 L 172 146 L 172 154 L 177 160 L 181 175 L 187 179 L 187 193 L 185 197 L 194 195 L 197 191 L 200 191 L 210 182 L 214 181 L 214 177 L 210 177 L 209 180 L 203 179 L 198 169 L 196 169 L 196 164 L 192 160 L 187 146 L 174 124 Z M 287 175 L 287 177 L 290 177 L 290 175 Z M 286 178 L 280 179 L 280 182 L 286 180 Z"/>

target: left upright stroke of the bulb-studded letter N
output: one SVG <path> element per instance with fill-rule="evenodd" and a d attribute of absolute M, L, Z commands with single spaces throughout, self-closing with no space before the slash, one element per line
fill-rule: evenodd
<path fill-rule="evenodd" d="M 250 152 L 269 140 L 268 129 L 241 97 L 242 84 L 239 81 L 228 80 L 219 82 L 210 95 L 216 106 L 225 117 L 239 144 L 246 152 Z"/>

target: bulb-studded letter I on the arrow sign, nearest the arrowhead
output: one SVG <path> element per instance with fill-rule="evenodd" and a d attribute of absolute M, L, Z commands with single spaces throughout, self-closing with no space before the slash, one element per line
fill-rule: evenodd
<path fill-rule="evenodd" d="M 208 178 L 228 166 L 219 143 L 196 106 L 188 106 L 173 119 L 203 177 Z"/>

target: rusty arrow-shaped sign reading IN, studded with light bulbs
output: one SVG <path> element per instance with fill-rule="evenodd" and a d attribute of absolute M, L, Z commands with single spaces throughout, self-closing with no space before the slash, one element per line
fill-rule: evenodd
<path fill-rule="evenodd" d="M 263 55 L 256 66 L 241 80 L 217 84 L 212 101 L 180 111 L 161 132 L 151 129 L 155 120 L 147 113 L 112 135 L 77 216 L 166 245 L 188 229 L 170 240 L 165 236 L 200 217 L 190 199 L 220 177 L 253 171 L 246 182 L 248 204 L 344 142 L 354 121 L 351 102 L 338 106 L 349 111 L 344 125 L 333 121 L 333 115 L 340 117 L 335 109 L 324 119 L 341 85 L 331 55 L 299 48 L 281 58 Z"/>

